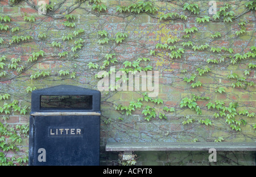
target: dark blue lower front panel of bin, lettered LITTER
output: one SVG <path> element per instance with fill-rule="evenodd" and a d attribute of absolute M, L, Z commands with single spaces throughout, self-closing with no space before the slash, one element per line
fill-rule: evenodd
<path fill-rule="evenodd" d="M 31 116 L 30 121 L 30 165 L 99 165 L 100 116 Z M 42 148 L 45 152 L 38 151 Z"/>

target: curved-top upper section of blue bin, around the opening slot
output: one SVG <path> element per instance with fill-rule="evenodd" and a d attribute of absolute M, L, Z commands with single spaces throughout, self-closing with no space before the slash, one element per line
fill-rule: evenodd
<path fill-rule="evenodd" d="M 32 91 L 34 112 L 100 112 L 101 92 L 72 85 L 60 85 Z"/>

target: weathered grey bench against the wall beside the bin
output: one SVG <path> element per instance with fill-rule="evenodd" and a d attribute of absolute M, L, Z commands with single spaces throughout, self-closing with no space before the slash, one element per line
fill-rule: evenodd
<path fill-rule="evenodd" d="M 123 160 L 133 151 L 256 151 L 256 142 L 108 142 L 106 151 L 123 151 Z"/>

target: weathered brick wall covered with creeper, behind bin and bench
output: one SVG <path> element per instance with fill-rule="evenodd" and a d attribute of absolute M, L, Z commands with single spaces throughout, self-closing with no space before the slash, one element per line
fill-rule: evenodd
<path fill-rule="evenodd" d="M 46 3 L 38 14 L 38 1 L 0 1 L 1 163 L 27 162 L 32 90 L 97 90 L 104 75 L 122 73 L 120 82 L 132 71 L 147 79 L 152 71 L 155 87 L 141 81 L 147 90 L 135 91 L 131 78 L 127 91 L 105 85 L 102 165 L 118 163 L 108 141 L 255 142 L 255 1 L 216 1 L 216 13 L 209 1 Z M 209 164 L 203 152 L 135 153 L 138 165 Z M 245 152 L 220 152 L 217 161 L 255 164 Z"/>

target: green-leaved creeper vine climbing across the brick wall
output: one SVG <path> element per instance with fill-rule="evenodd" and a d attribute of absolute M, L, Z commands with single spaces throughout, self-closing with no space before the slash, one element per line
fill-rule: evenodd
<path fill-rule="evenodd" d="M 16 6 L 19 5 L 20 0 L 11 0 L 10 5 Z M 29 1 L 24 1 L 27 5 L 31 6 Z M 87 3 L 88 8 L 81 7 L 83 3 Z M 131 3 L 130 5 L 125 6 L 115 6 L 113 8 L 114 16 L 119 18 L 126 18 L 128 16 L 138 16 L 138 14 L 147 14 L 154 20 L 159 20 L 160 23 L 168 23 L 170 21 L 180 20 L 184 23 L 184 31 L 181 33 L 181 37 L 168 37 L 166 40 L 159 40 L 159 43 L 154 44 L 151 47 L 145 47 L 147 50 L 145 53 L 141 53 L 139 57 L 134 58 L 130 61 L 121 61 L 119 60 L 119 54 L 115 51 L 118 46 L 125 45 L 129 43 L 130 33 L 124 28 L 123 31 L 112 32 L 108 29 L 97 29 L 96 38 L 97 41 L 95 45 L 100 45 L 102 48 L 109 46 L 110 51 L 104 53 L 104 55 L 97 60 L 91 61 L 80 61 L 81 50 L 88 45 L 86 42 L 85 35 L 86 30 L 81 28 L 77 24 L 76 15 L 72 14 L 72 11 L 76 9 L 84 9 L 89 12 L 89 14 L 101 16 L 103 15 L 112 15 L 108 10 L 109 7 L 106 6 L 100 0 L 79 0 L 72 6 L 71 10 L 67 9 L 61 11 L 59 14 L 61 17 L 56 17 L 54 14 L 57 13 L 57 10 L 60 9 L 61 3 L 57 5 L 47 5 L 47 17 L 53 19 L 63 20 L 63 27 L 69 29 L 68 33 L 63 33 L 60 35 L 59 39 L 50 39 L 47 31 L 38 33 L 37 35 L 26 32 L 26 29 L 23 29 L 22 26 L 13 22 L 11 16 L 2 14 L 0 15 L 0 46 L 2 48 L 9 47 L 18 47 L 26 43 L 36 41 L 38 43 L 43 43 L 44 46 L 52 47 L 53 50 L 44 50 L 43 47 L 40 49 L 36 48 L 30 53 L 27 60 L 22 57 L 9 57 L 7 54 L 1 54 L 0 56 L 0 81 L 10 81 L 12 79 L 17 79 L 19 77 L 30 79 L 33 83 L 37 79 L 50 79 L 50 77 L 58 77 L 58 79 L 72 79 L 76 81 L 77 76 L 81 76 L 79 69 L 86 69 L 86 71 L 93 73 L 94 78 L 101 79 L 117 71 L 122 73 L 137 73 L 139 71 L 151 71 L 155 66 L 152 66 L 154 60 L 151 59 L 154 57 L 163 57 L 164 56 L 168 61 L 175 61 L 179 63 L 184 63 L 184 56 L 189 50 L 193 52 L 207 52 L 216 57 L 214 58 L 205 58 L 205 63 L 201 66 L 197 66 L 196 70 L 189 70 L 188 68 L 181 69 L 181 81 L 189 87 L 189 89 L 197 89 L 204 86 L 203 81 L 199 81 L 200 77 L 205 75 L 214 75 L 214 69 L 216 66 L 225 65 L 225 66 L 235 66 L 242 64 L 243 61 L 251 60 L 247 64 L 246 69 L 241 73 L 235 73 L 230 71 L 230 73 L 225 75 L 225 78 L 230 81 L 228 84 L 220 84 L 217 87 L 213 88 L 213 92 L 216 95 L 224 95 L 228 92 L 229 87 L 238 88 L 238 89 L 247 89 L 252 86 L 255 86 L 253 81 L 250 81 L 248 76 L 252 71 L 255 70 L 256 64 L 254 63 L 256 57 L 256 47 L 251 46 L 249 51 L 244 52 L 241 50 L 237 52 L 231 46 L 222 47 L 216 46 L 212 42 L 220 39 L 225 36 L 225 33 L 213 31 L 208 37 L 210 43 L 200 43 L 195 41 L 195 35 L 200 32 L 200 28 L 197 24 L 207 24 L 212 22 L 223 22 L 225 24 L 233 24 L 236 22 L 238 28 L 234 32 L 236 37 L 241 37 L 247 32 L 246 25 L 249 24 L 249 20 L 242 20 L 240 16 L 246 14 L 250 11 L 256 10 L 256 1 L 245 2 L 244 5 L 246 10 L 241 14 L 236 14 L 232 10 L 232 5 L 229 3 L 224 3 L 224 6 L 220 7 L 216 14 L 212 16 L 203 15 L 201 16 L 200 8 L 197 3 L 181 3 L 179 7 L 181 12 L 166 12 L 155 5 L 154 2 L 150 1 L 138 1 L 136 3 Z M 32 7 L 32 6 L 31 6 Z M 38 7 L 34 7 L 35 10 L 38 10 Z M 62 14 L 64 13 L 64 14 Z M 188 18 L 195 17 L 195 26 L 187 26 L 186 22 Z M 38 26 L 38 17 L 34 15 L 23 14 L 23 21 L 26 24 Z M 37 24 L 36 24 L 37 23 Z M 30 28 L 31 29 L 31 28 Z M 70 44 L 71 46 L 68 47 Z M 66 46 L 67 45 L 67 46 Z M 52 72 L 51 70 L 41 70 L 41 69 L 32 69 L 36 65 L 40 64 L 43 61 L 51 61 L 54 58 L 55 61 L 67 61 L 72 62 L 72 67 L 67 69 L 59 69 Z M 112 69 L 111 66 L 118 65 L 117 69 Z M 189 70 L 189 71 L 188 71 Z M 97 71 L 104 71 L 101 74 L 95 74 Z M 10 74 L 16 73 L 16 74 Z M 123 82 L 127 82 L 127 78 L 116 78 L 124 79 Z M 97 80 L 98 81 L 98 80 Z M 34 84 L 26 86 L 24 92 L 30 94 L 31 91 L 35 90 L 36 87 Z M 117 86 L 114 86 L 113 90 L 118 90 Z M 108 94 L 108 92 L 106 93 Z M 190 94 L 189 96 L 183 96 L 183 98 L 177 103 L 175 107 L 171 107 L 166 103 L 166 100 L 160 98 L 150 98 L 147 92 L 141 93 L 142 97 L 137 98 L 127 104 L 115 104 L 112 103 L 112 106 L 117 110 L 121 116 L 118 117 L 118 121 L 125 119 L 125 116 L 132 116 L 135 111 L 141 111 L 146 122 L 152 120 L 160 119 L 159 121 L 167 121 L 170 117 L 170 114 L 178 115 L 180 111 L 186 109 L 195 112 L 196 115 L 203 115 L 203 111 L 207 110 L 212 112 L 206 119 L 195 118 L 192 115 L 181 116 L 183 126 L 189 126 L 191 124 L 203 125 L 203 126 L 214 126 L 214 121 L 221 119 L 225 121 L 225 124 L 231 130 L 236 132 L 241 132 L 241 128 L 246 125 L 250 125 L 254 130 L 256 129 L 256 124 L 250 124 L 246 120 L 253 119 L 255 116 L 254 112 L 251 112 L 250 109 L 243 108 L 237 102 L 224 102 L 218 99 L 210 99 L 209 96 L 205 95 L 195 95 Z M 11 94 L 5 90 L 0 91 L 0 113 L 2 114 L 3 122 L 6 122 L 9 119 L 9 116 L 13 113 L 18 115 L 26 115 L 30 109 L 30 106 L 21 106 L 22 104 L 18 100 L 19 96 Z M 205 106 L 199 104 L 200 101 L 205 101 L 207 104 Z M 21 102 L 29 101 L 22 99 Z M 102 116 L 104 117 L 104 116 Z M 110 117 L 104 117 L 104 122 L 106 124 L 111 122 Z M 256 132 L 256 131 L 255 131 Z M 170 133 L 164 130 L 164 136 L 169 136 Z M 1 165 L 22 165 L 27 163 L 27 157 L 7 157 L 8 151 L 19 151 L 19 144 L 22 142 L 24 137 L 28 136 L 28 125 L 14 125 L 7 123 L 0 123 L 0 163 Z M 225 136 L 214 137 L 214 142 L 225 141 Z M 8 140 L 7 140 L 8 139 Z M 198 138 L 193 138 L 193 142 L 199 141 Z"/>

